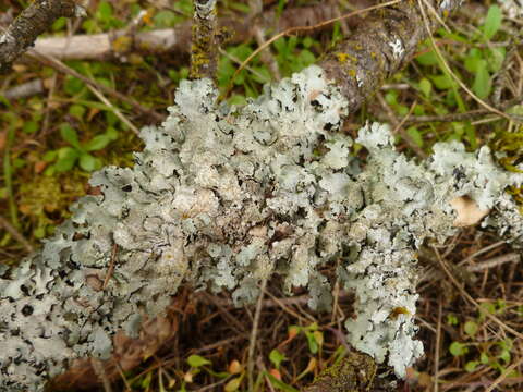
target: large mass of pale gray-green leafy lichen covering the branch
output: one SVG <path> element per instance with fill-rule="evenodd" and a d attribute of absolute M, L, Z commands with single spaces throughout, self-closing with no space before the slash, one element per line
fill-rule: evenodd
<path fill-rule="evenodd" d="M 416 247 L 455 232 L 453 197 L 497 208 L 521 176 L 458 144 L 416 164 L 380 124 L 361 130 L 369 158 L 360 164 L 339 133 L 346 100 L 317 66 L 239 110 L 216 98 L 209 81 L 182 82 L 168 120 L 142 131 L 134 168 L 97 172 L 102 195 L 78 200 L 42 250 L 0 280 L 0 390 L 41 391 L 71 359 L 107 358 L 112 334 L 135 335 L 183 282 L 228 290 L 241 305 L 277 274 L 329 308 L 319 271 L 335 260 L 357 296 L 351 344 L 400 377 L 422 355 Z M 521 234 L 521 217 L 511 219 L 502 231 Z"/>

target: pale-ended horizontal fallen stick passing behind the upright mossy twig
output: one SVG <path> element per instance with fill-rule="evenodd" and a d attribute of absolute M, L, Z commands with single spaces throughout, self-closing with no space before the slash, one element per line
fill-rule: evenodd
<path fill-rule="evenodd" d="M 303 24 L 315 25 L 335 16 L 331 4 L 317 4 L 314 7 L 290 8 L 283 11 L 281 17 L 276 17 L 276 12 L 269 10 L 258 17 L 258 26 L 267 32 L 282 32 L 290 27 Z M 162 28 L 150 32 L 117 32 L 74 35 L 72 37 L 38 38 L 35 50 L 39 53 L 52 56 L 60 60 L 101 60 L 108 58 L 122 58 L 127 51 L 146 53 L 190 53 L 191 52 L 191 25 L 187 21 L 174 28 Z M 220 29 L 226 28 L 235 34 L 230 44 L 239 44 L 254 38 L 254 30 L 247 19 L 220 17 Z M 325 26 L 328 27 L 328 26 Z M 120 37 L 131 40 L 125 48 L 114 48 L 113 42 Z"/>

